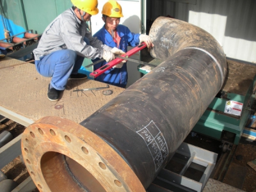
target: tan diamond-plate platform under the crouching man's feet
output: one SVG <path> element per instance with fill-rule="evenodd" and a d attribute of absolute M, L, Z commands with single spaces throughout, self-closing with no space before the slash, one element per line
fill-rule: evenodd
<path fill-rule="evenodd" d="M 90 79 L 69 80 L 60 100 L 53 102 L 47 98 L 51 78 L 38 74 L 34 64 L 7 58 L 1 60 L 2 65 L 5 67 L 0 68 L 0 106 L 33 121 L 44 116 L 61 116 L 80 123 L 125 90 L 109 85 L 104 90 L 112 90 L 111 95 L 102 94 L 104 90 L 73 92 L 106 84 Z"/>

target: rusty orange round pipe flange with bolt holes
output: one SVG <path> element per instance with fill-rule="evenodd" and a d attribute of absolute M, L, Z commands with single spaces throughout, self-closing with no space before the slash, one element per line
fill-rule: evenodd
<path fill-rule="evenodd" d="M 26 128 L 21 147 L 40 191 L 145 191 L 113 148 L 70 120 L 41 118 Z"/>

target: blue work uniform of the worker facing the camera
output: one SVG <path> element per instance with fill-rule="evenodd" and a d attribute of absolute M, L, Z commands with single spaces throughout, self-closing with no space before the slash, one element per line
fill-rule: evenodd
<path fill-rule="evenodd" d="M 140 44 L 140 34 L 131 33 L 130 29 L 123 25 L 118 25 L 116 28 L 116 33 L 120 36 L 120 44 L 117 46 L 116 42 L 113 40 L 111 34 L 107 31 L 105 26 L 101 28 L 94 37 L 97 37 L 103 44 L 108 45 L 109 47 L 117 47 L 124 52 L 127 52 L 128 45 L 131 47 L 135 47 Z M 95 62 L 97 60 L 93 60 Z M 94 65 L 94 70 L 106 65 L 106 61 L 102 61 Z M 108 84 L 113 84 L 115 86 L 125 87 L 128 80 L 127 75 L 127 65 L 124 63 L 122 68 L 111 68 L 104 72 L 104 74 L 96 77 L 95 80 L 101 81 Z"/>

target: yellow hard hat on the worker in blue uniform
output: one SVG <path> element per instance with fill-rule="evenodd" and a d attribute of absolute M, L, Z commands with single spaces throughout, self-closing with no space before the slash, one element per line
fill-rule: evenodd
<path fill-rule="evenodd" d="M 122 7 L 115 0 L 109 0 L 107 3 L 105 3 L 101 13 L 103 15 L 107 15 L 108 17 L 124 17 Z"/>

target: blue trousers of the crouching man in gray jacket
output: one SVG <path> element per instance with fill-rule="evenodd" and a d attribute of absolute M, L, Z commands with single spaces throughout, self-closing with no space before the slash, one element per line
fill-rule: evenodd
<path fill-rule="evenodd" d="M 75 51 L 63 49 L 43 56 L 35 61 L 36 70 L 44 77 L 52 77 L 51 87 L 65 90 L 68 77 L 77 74 L 84 57 L 77 56 Z"/>

